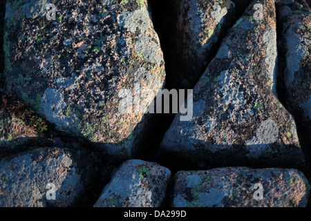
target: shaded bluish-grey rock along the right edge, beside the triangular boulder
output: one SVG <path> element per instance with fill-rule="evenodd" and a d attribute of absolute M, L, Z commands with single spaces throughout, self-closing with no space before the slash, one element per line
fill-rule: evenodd
<path fill-rule="evenodd" d="M 311 133 L 311 12 L 299 3 L 279 4 L 285 101 L 301 130 Z"/>

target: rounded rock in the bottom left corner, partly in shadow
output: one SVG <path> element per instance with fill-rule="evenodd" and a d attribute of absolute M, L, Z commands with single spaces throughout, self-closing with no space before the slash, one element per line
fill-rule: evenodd
<path fill-rule="evenodd" d="M 86 155 L 68 149 L 38 148 L 2 158 L 0 206 L 74 206 L 93 173 L 93 163 Z"/>

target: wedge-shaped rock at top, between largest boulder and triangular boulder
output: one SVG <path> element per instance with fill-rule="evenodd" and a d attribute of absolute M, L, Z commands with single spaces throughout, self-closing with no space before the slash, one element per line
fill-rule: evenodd
<path fill-rule="evenodd" d="M 229 0 L 173 2 L 177 23 L 172 25 L 171 37 L 171 56 L 175 58 L 169 67 L 172 84 L 177 88 L 192 88 L 207 67 L 218 39 L 234 21 L 236 8 Z"/>

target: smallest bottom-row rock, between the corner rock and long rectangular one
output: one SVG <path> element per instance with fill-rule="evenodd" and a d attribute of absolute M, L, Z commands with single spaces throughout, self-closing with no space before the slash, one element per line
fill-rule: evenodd
<path fill-rule="evenodd" d="M 124 162 L 102 191 L 95 207 L 158 207 L 162 205 L 171 171 L 142 160 Z"/>

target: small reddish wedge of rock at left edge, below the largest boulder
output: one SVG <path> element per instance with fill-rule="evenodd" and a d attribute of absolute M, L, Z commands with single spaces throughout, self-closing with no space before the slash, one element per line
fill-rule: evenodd
<path fill-rule="evenodd" d="M 32 145 L 41 146 L 50 143 L 33 126 L 26 124 L 22 119 L 13 117 L 0 107 L 0 157 L 17 151 L 25 151 Z"/>

